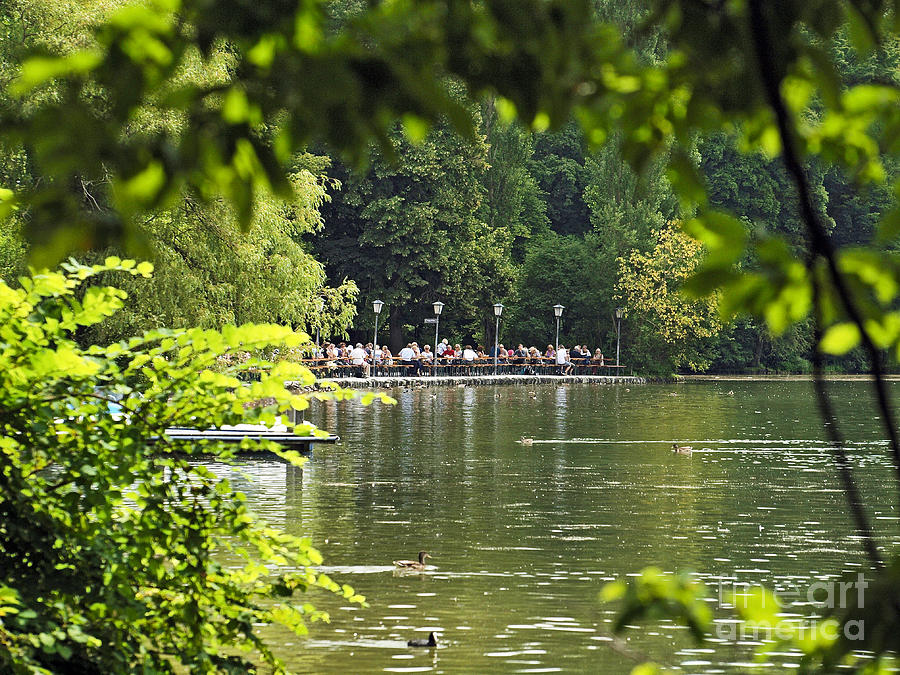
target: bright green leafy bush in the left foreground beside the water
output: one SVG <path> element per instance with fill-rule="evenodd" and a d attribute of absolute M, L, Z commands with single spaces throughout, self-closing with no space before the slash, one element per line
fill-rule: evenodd
<path fill-rule="evenodd" d="M 256 627 L 304 634 L 327 613 L 294 599 L 321 588 L 364 603 L 312 566 L 309 540 L 257 521 L 243 494 L 206 465 L 236 449 L 178 442 L 170 426 L 257 422 L 302 410 L 291 363 L 229 358 L 307 339 L 271 324 L 155 330 L 82 349 L 77 331 L 114 316 L 126 293 L 89 285 L 148 263 L 108 258 L 0 283 L 0 670 L 281 670 Z M 258 379 L 245 384 L 252 370 Z M 318 397 L 347 398 L 334 388 Z M 248 407 L 260 400 L 268 405 Z M 108 405 L 121 407 L 111 414 Z M 309 425 L 297 433 L 317 433 Z M 269 450 L 300 465 L 293 451 Z M 43 671 L 41 671 L 43 672 Z"/>

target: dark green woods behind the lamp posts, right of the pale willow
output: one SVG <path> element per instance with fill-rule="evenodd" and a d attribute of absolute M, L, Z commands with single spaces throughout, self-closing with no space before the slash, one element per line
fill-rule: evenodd
<path fill-rule="evenodd" d="M 636 36 L 640 59 L 665 52 L 664 35 L 639 30 L 638 4 L 596 2 L 595 9 L 626 37 Z M 884 45 L 865 62 L 846 37 L 831 50 L 851 85 L 900 82 L 897 47 Z M 679 247 L 677 223 L 691 214 L 681 210 L 665 162 L 637 175 L 615 137 L 591 149 L 574 121 L 555 132 L 529 131 L 504 124 L 501 113 L 492 100 L 471 111 L 476 143 L 439 128 L 413 144 L 398 129 L 395 157 L 373 150 L 361 172 L 334 161 L 330 175 L 340 188 L 322 206 L 323 231 L 307 240 L 332 281 L 352 278 L 360 289 L 354 337 L 372 339 L 371 301 L 381 299 L 390 310 L 392 346 L 413 337 L 428 342 L 433 336 L 424 319 L 439 300 L 446 304 L 442 333 L 490 344 L 491 306 L 502 302 L 501 340 L 542 347 L 553 341 L 552 306 L 561 303 L 561 341 L 610 354 L 621 306 L 623 362 L 638 370 L 809 371 L 809 323 L 773 337 L 763 322 L 720 321 L 708 304 L 678 296 L 703 252 Z M 779 160 L 744 154 L 737 135 L 726 134 L 698 138 L 688 159 L 706 181 L 711 206 L 738 216 L 748 233 L 782 235 L 804 249 Z M 810 164 L 807 171 L 836 241 L 869 242 L 890 203 L 889 188 L 861 189 L 834 167 Z M 693 261 L 673 256 L 672 243 Z M 754 261 L 742 264 L 752 268 Z M 865 368 L 858 351 L 830 365 Z"/>

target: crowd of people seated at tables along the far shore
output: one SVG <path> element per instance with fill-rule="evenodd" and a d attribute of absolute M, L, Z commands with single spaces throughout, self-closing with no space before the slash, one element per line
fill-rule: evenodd
<path fill-rule="evenodd" d="M 373 359 L 374 355 L 374 359 Z M 596 369 L 606 366 L 603 352 L 599 347 L 591 351 L 587 345 L 575 345 L 571 350 L 565 345 L 556 349 L 553 345 L 541 352 L 537 347 L 526 347 L 519 343 L 515 349 L 507 349 L 505 345 L 497 345 L 485 351 L 482 345 L 473 347 L 452 344 L 446 338 L 438 343 L 432 351 L 431 345 L 421 348 L 417 342 L 408 343 L 396 356 L 386 345 L 363 345 L 333 342 L 317 347 L 315 361 L 322 366 L 352 369 L 354 374 L 368 377 L 372 368 L 392 368 L 403 366 L 406 374 L 412 376 L 423 373 L 434 373 L 438 367 L 452 370 L 471 369 L 473 366 L 493 366 L 496 362 L 500 372 L 519 375 L 535 374 L 537 368 L 552 369 L 558 375 L 571 375 L 579 367 Z"/>

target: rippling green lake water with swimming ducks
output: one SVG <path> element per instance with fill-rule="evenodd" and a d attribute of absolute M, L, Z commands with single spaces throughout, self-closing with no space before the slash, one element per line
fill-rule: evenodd
<path fill-rule="evenodd" d="M 892 385 L 896 386 L 896 385 Z M 831 386 L 881 543 L 900 538 L 896 485 L 864 382 Z M 541 385 L 392 392 L 396 406 L 316 404 L 340 435 L 303 471 L 252 463 L 253 508 L 312 537 L 369 608 L 325 594 L 309 638 L 277 635 L 298 672 L 776 671 L 753 640 L 695 645 L 645 624 L 611 642 L 605 582 L 648 565 L 718 587 L 795 592 L 866 568 L 808 382 Z M 531 446 L 516 441 L 534 438 Z M 671 452 L 691 445 L 692 456 Z M 423 573 L 391 561 L 434 557 Z M 717 630 L 733 626 L 716 608 Z M 411 638 L 438 633 L 440 647 Z M 723 635 L 719 632 L 719 635 Z"/>

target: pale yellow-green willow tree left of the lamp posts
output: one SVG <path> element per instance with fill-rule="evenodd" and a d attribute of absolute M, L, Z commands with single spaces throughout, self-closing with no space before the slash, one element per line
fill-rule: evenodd
<path fill-rule="evenodd" d="M 155 326 L 267 321 L 340 334 L 355 314 L 357 288 L 347 280 L 329 287 L 323 266 L 301 245 L 303 234 L 321 227 L 325 188 L 308 171 L 292 179 L 298 198 L 259 204 L 247 232 L 227 204 L 203 205 L 190 197 L 146 219 L 141 229 L 151 246 L 153 279 L 126 281 L 133 302 L 83 333 L 82 341 L 105 344 Z M 327 311 L 319 312 L 320 298 Z"/>

